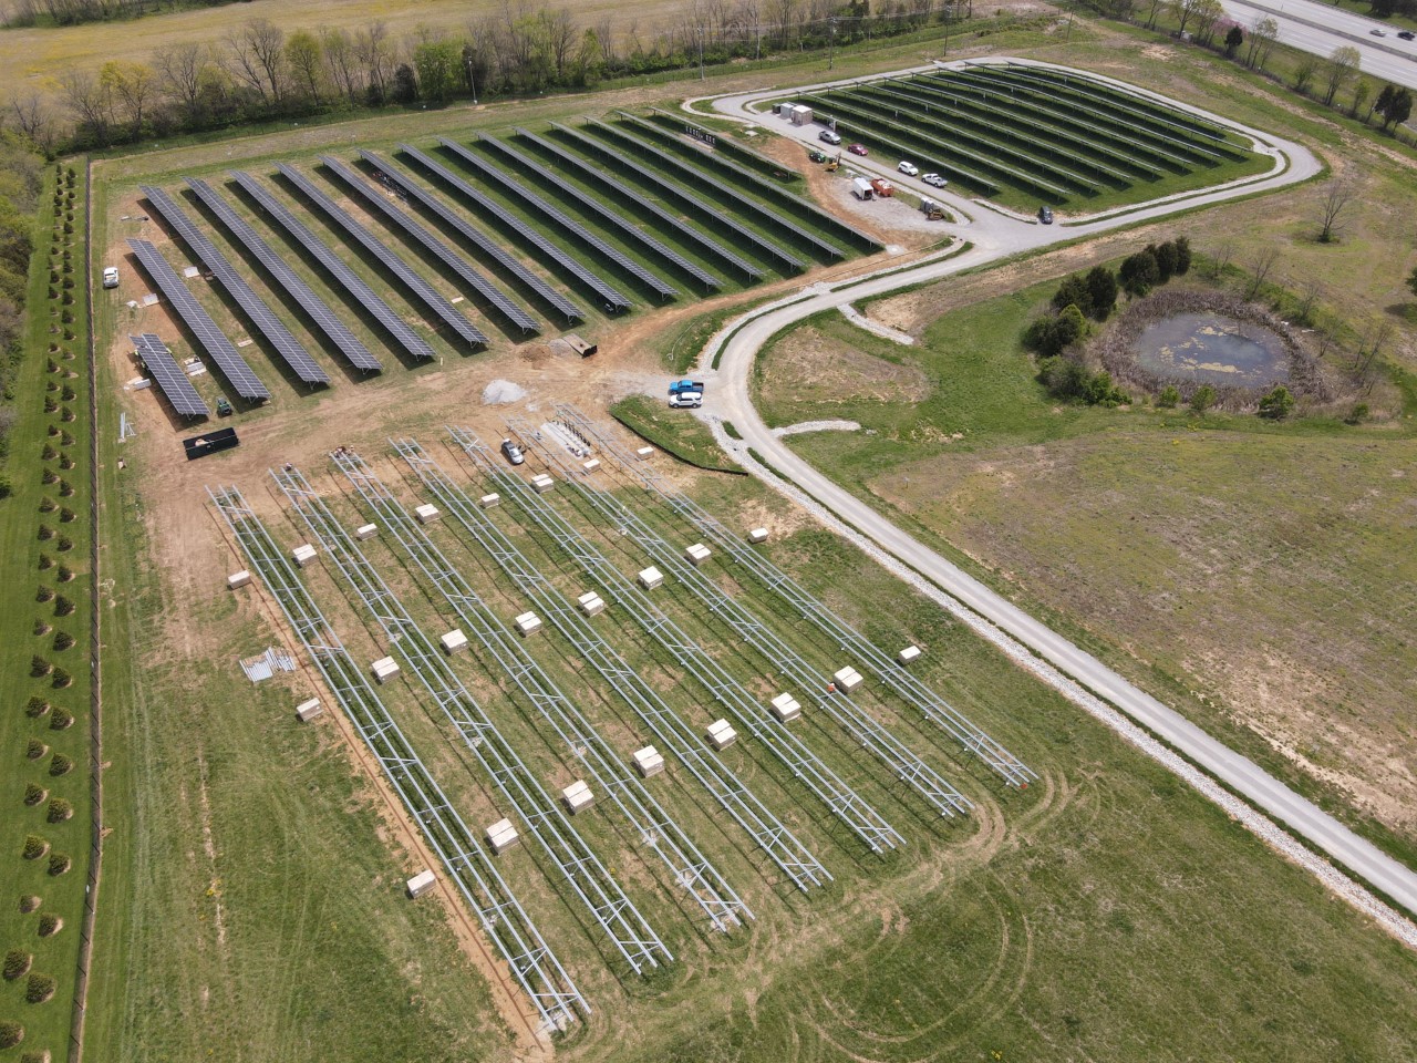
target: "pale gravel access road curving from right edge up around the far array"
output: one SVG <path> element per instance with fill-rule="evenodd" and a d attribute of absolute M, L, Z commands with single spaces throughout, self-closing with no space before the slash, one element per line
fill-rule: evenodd
<path fill-rule="evenodd" d="M 998 61 L 1022 62 L 1020 60 L 1003 58 Z M 1136 89 L 1131 88 L 1131 91 Z M 717 113 L 758 125 L 764 120 L 760 109 L 774 95 L 781 96 L 782 94 L 755 92 L 726 96 L 711 101 L 711 105 Z M 1175 101 L 1168 101 L 1168 103 L 1180 106 Z M 686 106 L 693 109 L 694 102 Z M 1204 112 L 1197 111 L 1197 113 Z M 748 381 L 758 351 L 784 327 L 803 320 L 811 315 L 845 306 L 853 299 L 863 296 L 883 295 L 925 281 L 938 281 L 962 269 L 998 262 L 1013 254 L 1043 248 L 1064 240 L 1073 240 L 1078 235 L 1100 234 L 1135 221 L 1163 217 L 1178 210 L 1189 210 L 1199 204 L 1220 203 L 1237 196 L 1250 196 L 1260 190 L 1280 189 L 1306 180 L 1321 170 L 1319 160 L 1297 143 L 1236 126 L 1233 122 L 1226 122 L 1217 115 L 1206 116 L 1210 120 L 1238 129 L 1254 137 L 1255 149 L 1274 157 L 1275 164 L 1271 171 L 1236 181 L 1230 186 L 1187 193 L 1138 208 L 1080 218 L 1076 224 L 1068 225 L 1039 225 L 1032 218 L 1019 218 L 998 211 L 988 204 L 939 196 L 939 198 L 945 200 L 949 207 L 959 213 L 962 220 L 955 227 L 956 235 L 968 240 L 973 245 L 972 248 L 952 258 L 927 262 L 915 268 L 900 269 L 896 266 L 887 275 L 867 278 L 849 286 L 816 285 L 809 289 L 805 298 L 799 293 L 791 300 L 779 300 L 730 322 L 714 342 L 708 344 L 701 359 L 700 373 L 716 377 L 717 386 L 708 390 L 708 398 L 700 415 L 731 421 L 743 437 L 743 446 L 751 446 L 762 461 L 771 465 L 777 475 L 795 483 L 842 522 L 854 527 L 880 549 L 924 575 L 999 629 L 1007 632 L 1066 676 L 1070 676 L 1112 706 L 1121 709 L 1134 721 L 1162 737 L 1182 754 L 1264 809 L 1275 821 L 1318 846 L 1370 886 L 1397 901 L 1407 911 L 1417 913 L 1417 874 L 1410 869 L 1360 839 L 1333 816 L 1322 812 L 1316 805 L 1295 794 L 1260 768 L 1260 765 L 1236 754 L 1227 746 L 1192 724 L 1180 713 L 1127 682 L 1091 653 L 1084 652 L 1068 639 L 995 594 L 890 520 L 881 517 L 854 495 L 839 488 L 775 437 L 752 407 Z M 767 120 L 774 119 L 769 116 Z M 815 126 L 796 129 L 782 123 L 778 132 L 795 136 L 803 143 L 815 143 L 818 129 Z M 888 174 L 900 180 L 900 174 L 881 167 L 880 163 L 871 164 L 869 160 L 856 160 L 854 164 L 859 169 L 876 169 L 881 174 Z M 717 374 L 713 374 L 708 371 L 708 367 L 716 356 L 720 359 L 720 370 Z M 765 479 L 771 480 L 771 476 Z"/>

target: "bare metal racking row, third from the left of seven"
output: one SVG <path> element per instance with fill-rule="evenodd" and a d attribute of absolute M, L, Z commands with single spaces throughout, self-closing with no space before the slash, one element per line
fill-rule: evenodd
<path fill-rule="evenodd" d="M 523 697 L 551 724 L 571 755 L 585 765 L 591 778 L 615 802 L 683 887 L 708 916 L 714 930 L 728 933 L 754 918 L 728 882 L 699 846 L 660 808 L 640 778 L 615 754 L 595 726 L 541 669 L 523 642 L 507 631 L 502 618 L 473 591 L 462 573 L 444 556 L 432 537 L 408 516 L 368 463 L 351 451 L 336 451 L 334 466 L 384 522 L 384 527 L 408 551 L 419 571 L 436 587 L 462 622 L 516 683 Z"/>

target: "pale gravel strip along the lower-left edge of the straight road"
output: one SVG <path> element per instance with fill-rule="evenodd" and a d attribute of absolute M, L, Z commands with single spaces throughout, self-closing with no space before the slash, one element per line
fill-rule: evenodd
<path fill-rule="evenodd" d="M 1408 948 L 1417 948 L 1417 924 L 1400 911 L 1374 897 L 1363 886 L 1353 882 L 1353 879 L 1331 865 L 1322 856 L 1304 846 L 1292 835 L 1287 833 L 1268 819 L 1263 812 L 1251 808 L 1248 804 L 1226 791 L 1219 782 L 1206 775 L 1203 771 L 1186 763 L 1180 755 L 1138 727 L 1121 712 L 1078 686 L 1049 662 L 1034 656 L 1022 643 L 1016 642 L 1013 636 L 993 626 L 993 624 L 972 609 L 965 608 L 961 602 L 955 601 L 952 597 L 935 587 L 935 584 L 930 583 L 911 568 L 907 568 L 904 564 L 897 561 L 896 557 L 881 550 L 860 532 L 843 523 L 809 495 L 803 493 L 792 483 L 788 483 L 771 469 L 765 468 L 748 454 L 748 445 L 744 441 L 728 438 L 728 434 L 723 431 L 721 421 L 714 418 L 711 421 L 711 428 L 714 439 L 724 449 L 724 452 L 733 455 L 734 461 L 743 465 L 743 468 L 750 473 L 757 476 L 779 495 L 784 495 L 806 512 L 812 513 L 812 516 L 815 516 L 826 527 L 860 547 L 890 573 L 908 583 L 931 601 L 937 602 L 962 624 L 969 625 L 973 632 L 988 639 L 1003 653 L 1007 653 L 1009 658 L 1020 668 L 1024 668 L 1036 675 L 1040 680 L 1060 692 L 1070 702 L 1087 710 L 1091 716 L 1111 727 L 1148 757 L 1166 767 L 1176 777 L 1193 787 L 1202 797 L 1219 805 L 1230 815 L 1231 819 L 1243 823 L 1271 849 L 1275 849 L 1292 863 L 1297 863 L 1299 867 L 1318 877 L 1319 882 L 1355 909 L 1370 916 L 1377 926 L 1390 933 Z"/>

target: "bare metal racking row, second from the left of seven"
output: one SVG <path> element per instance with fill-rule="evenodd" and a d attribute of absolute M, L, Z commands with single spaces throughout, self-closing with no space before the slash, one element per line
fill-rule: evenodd
<path fill-rule="evenodd" d="M 669 948 L 374 571 L 319 492 L 293 466 L 272 469 L 271 478 L 631 968 L 642 974 L 645 967 L 659 967 L 660 958 L 672 961 Z"/>

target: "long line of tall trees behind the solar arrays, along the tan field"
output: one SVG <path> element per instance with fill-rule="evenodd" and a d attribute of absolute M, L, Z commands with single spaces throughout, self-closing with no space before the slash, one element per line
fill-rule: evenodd
<path fill-rule="evenodd" d="M 340 108 L 587 88 L 614 77 L 845 47 L 969 10 L 969 0 L 690 0 L 650 33 L 633 20 L 588 26 L 568 7 L 526 3 L 507 3 L 461 33 L 402 35 L 383 21 L 286 33 L 252 18 L 220 41 L 65 71 L 60 113 L 31 92 L 13 98 L 6 118 L 51 150 L 106 146 Z"/>

